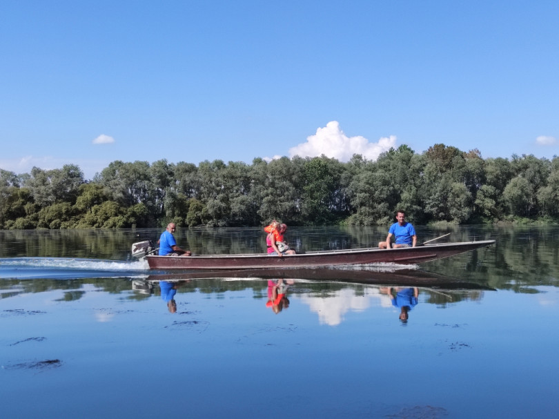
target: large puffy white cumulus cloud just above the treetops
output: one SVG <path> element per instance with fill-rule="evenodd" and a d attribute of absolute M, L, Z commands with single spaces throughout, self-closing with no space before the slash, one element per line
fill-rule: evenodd
<path fill-rule="evenodd" d="M 384 151 L 395 147 L 396 137 L 381 137 L 378 142 L 369 142 L 358 135 L 348 137 L 337 121 L 331 121 L 324 128 L 318 128 L 315 135 L 307 137 L 306 142 L 289 149 L 289 157 L 317 157 L 326 155 L 340 162 L 348 162 L 354 154 L 375 160 Z"/>

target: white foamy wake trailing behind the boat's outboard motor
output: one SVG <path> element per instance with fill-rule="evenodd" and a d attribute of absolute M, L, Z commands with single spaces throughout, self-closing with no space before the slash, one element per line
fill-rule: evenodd
<path fill-rule="evenodd" d="M 0 258 L 2 279 L 75 279 L 84 277 L 136 277 L 148 271 L 147 262 L 66 257 Z"/>

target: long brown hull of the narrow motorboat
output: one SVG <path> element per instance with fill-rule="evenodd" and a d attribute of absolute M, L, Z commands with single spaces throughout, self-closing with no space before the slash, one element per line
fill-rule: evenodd
<path fill-rule="evenodd" d="M 418 264 L 469 252 L 494 244 L 495 240 L 424 246 L 400 249 L 354 249 L 320 251 L 286 255 L 195 255 L 146 256 L 150 269 L 291 269 L 355 264 Z"/>

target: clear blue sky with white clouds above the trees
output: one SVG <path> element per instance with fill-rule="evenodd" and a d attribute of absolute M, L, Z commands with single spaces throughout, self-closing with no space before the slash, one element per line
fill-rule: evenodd
<path fill-rule="evenodd" d="M 559 155 L 559 1 L 3 1 L 0 168 Z M 349 157 L 348 157 L 349 156 Z"/>

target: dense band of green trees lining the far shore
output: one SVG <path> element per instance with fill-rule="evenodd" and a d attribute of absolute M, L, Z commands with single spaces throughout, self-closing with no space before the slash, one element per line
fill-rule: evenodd
<path fill-rule="evenodd" d="M 384 225 L 398 208 L 422 225 L 557 222 L 559 157 L 483 159 L 435 144 L 375 160 L 282 157 L 197 166 L 112 162 L 93 179 L 79 166 L 19 174 L 0 168 L 0 228 Z"/>

